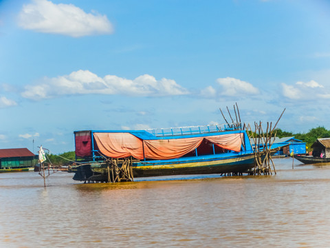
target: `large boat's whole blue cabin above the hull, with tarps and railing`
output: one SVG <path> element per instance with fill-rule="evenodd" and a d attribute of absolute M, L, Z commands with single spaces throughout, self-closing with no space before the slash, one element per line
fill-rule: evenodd
<path fill-rule="evenodd" d="M 159 130 L 85 130 L 74 132 L 76 158 L 104 161 L 133 157 L 139 161 L 166 160 L 230 152 L 252 152 L 245 130 L 218 126 Z"/>

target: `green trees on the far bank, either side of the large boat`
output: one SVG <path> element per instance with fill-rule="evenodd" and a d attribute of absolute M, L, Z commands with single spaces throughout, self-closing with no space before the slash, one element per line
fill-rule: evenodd
<path fill-rule="evenodd" d="M 275 133 L 275 132 L 274 132 Z M 311 145 L 316 141 L 317 138 L 330 138 L 330 130 L 326 130 L 325 127 L 316 127 L 312 128 L 306 134 L 298 133 L 294 134 L 293 132 L 283 131 L 280 128 L 276 131 L 276 137 L 292 137 L 303 141 L 306 143 L 307 150 L 311 151 Z M 65 152 L 63 154 L 47 154 L 47 163 L 52 163 L 54 165 L 66 165 L 72 161 L 76 160 L 75 152 Z"/>

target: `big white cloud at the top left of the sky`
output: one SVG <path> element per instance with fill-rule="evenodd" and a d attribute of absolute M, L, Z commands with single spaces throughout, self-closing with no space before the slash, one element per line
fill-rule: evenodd
<path fill-rule="evenodd" d="M 33 0 L 23 5 L 19 25 L 27 30 L 70 37 L 113 32 L 113 26 L 105 15 L 86 13 L 73 4 L 55 4 L 47 0 Z"/>

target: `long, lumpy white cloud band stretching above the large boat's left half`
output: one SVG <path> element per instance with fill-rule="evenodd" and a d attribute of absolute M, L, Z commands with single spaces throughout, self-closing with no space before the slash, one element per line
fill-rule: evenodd
<path fill-rule="evenodd" d="M 107 75 L 100 78 L 89 70 L 78 70 L 69 75 L 44 78 L 39 85 L 27 85 L 22 96 L 41 100 L 73 94 L 122 94 L 126 96 L 173 96 L 188 94 L 188 90 L 171 79 L 156 80 L 144 74 L 136 79 Z"/>

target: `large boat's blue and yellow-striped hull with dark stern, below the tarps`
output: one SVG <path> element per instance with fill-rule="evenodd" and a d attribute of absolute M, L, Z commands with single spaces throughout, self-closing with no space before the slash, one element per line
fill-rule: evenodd
<path fill-rule="evenodd" d="M 188 174 L 246 173 L 254 167 L 254 154 L 221 154 L 199 157 L 177 158 L 166 161 L 133 162 L 134 177 L 170 176 Z M 94 180 L 107 182 L 107 167 L 100 165 L 80 165 L 74 180 Z"/>

